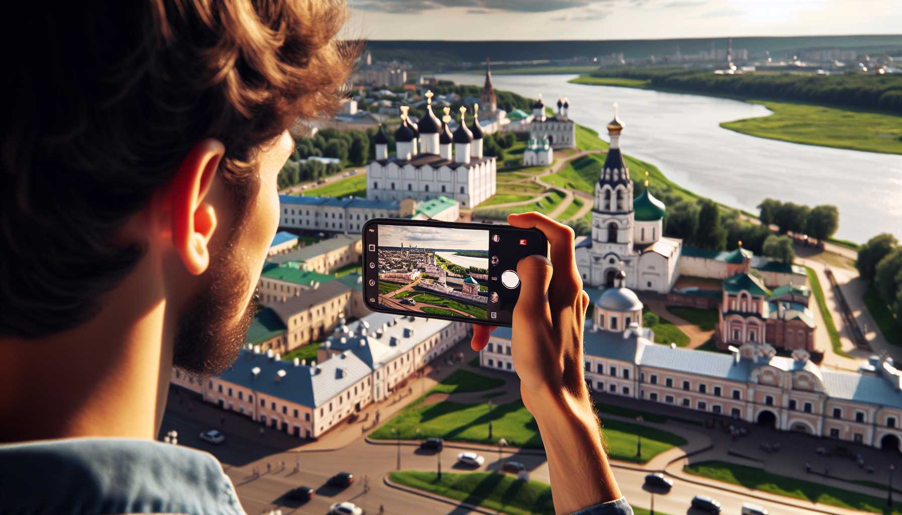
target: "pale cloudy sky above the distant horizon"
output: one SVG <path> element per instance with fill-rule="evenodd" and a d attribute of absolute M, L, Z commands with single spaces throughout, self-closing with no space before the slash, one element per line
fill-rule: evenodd
<path fill-rule="evenodd" d="M 348 0 L 370 40 L 898 34 L 902 0 Z"/>

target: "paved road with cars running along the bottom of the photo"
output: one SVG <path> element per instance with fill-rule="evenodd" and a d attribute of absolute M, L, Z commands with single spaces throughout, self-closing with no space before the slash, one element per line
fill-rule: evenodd
<path fill-rule="evenodd" d="M 432 501 L 419 495 L 408 492 L 400 492 L 382 484 L 382 477 L 395 470 L 397 466 L 398 447 L 394 445 L 372 445 L 363 439 L 357 439 L 354 443 L 336 451 L 324 452 L 275 452 L 272 449 L 256 445 L 253 440 L 242 438 L 229 438 L 226 429 L 226 443 L 222 446 L 212 446 L 201 442 L 197 435 L 204 429 L 202 423 L 189 418 L 179 417 L 167 412 L 164 416 L 164 428 L 175 428 L 179 431 L 179 444 L 197 447 L 208 451 L 224 464 L 226 474 L 235 483 L 235 489 L 249 515 L 256 515 L 262 510 L 281 508 L 283 513 L 325 513 L 333 502 L 352 501 L 363 506 L 368 513 L 376 513 L 379 505 L 385 507 L 386 513 L 391 515 L 419 515 L 423 513 L 463 514 L 471 511 L 456 508 L 440 501 Z M 468 472 L 476 469 L 457 467 L 456 455 L 461 449 L 446 447 L 441 453 L 442 470 L 446 472 Z M 271 454 L 272 453 L 272 454 Z M 401 468 L 415 470 L 435 470 L 437 455 L 432 452 L 419 451 L 415 446 L 400 446 Z M 497 452 L 485 452 L 486 463 L 480 469 L 496 469 L 499 465 Z M 291 471 L 295 459 L 300 457 L 301 472 L 295 474 Z M 543 455 L 511 454 L 505 452 L 505 460 L 516 460 L 527 465 L 530 477 L 543 482 L 548 482 L 548 464 Z M 286 470 L 266 473 L 266 464 L 275 464 L 279 468 L 279 462 L 285 461 Z M 259 467 L 263 474 L 258 479 L 252 478 L 252 469 Z M 327 479 L 337 472 L 346 471 L 357 478 L 354 484 L 340 490 L 325 486 Z M 371 491 L 364 494 L 364 474 L 370 476 Z M 614 475 L 621 486 L 621 491 L 634 505 L 649 508 L 651 492 L 643 487 L 643 478 L 646 472 L 632 470 L 621 466 L 615 466 Z M 804 505 L 791 507 L 773 501 L 760 501 L 750 499 L 740 493 L 724 492 L 711 486 L 703 486 L 688 483 L 681 479 L 675 480 L 676 484 L 672 492 L 658 493 L 655 496 L 655 509 L 670 515 L 682 513 L 693 514 L 688 510 L 689 501 L 695 494 L 710 495 L 723 503 L 723 513 L 738 514 L 743 501 L 753 501 L 770 510 L 771 513 L 787 513 L 790 515 L 810 515 L 813 511 Z M 283 494 L 291 488 L 299 485 L 307 485 L 316 491 L 314 499 L 307 504 L 299 505 L 283 499 Z M 849 514 L 852 510 L 833 509 L 826 507 L 833 513 Z"/>

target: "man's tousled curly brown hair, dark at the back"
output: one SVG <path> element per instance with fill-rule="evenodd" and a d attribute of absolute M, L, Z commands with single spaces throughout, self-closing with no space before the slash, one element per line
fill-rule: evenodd
<path fill-rule="evenodd" d="M 0 117 L 5 336 L 97 313 L 143 253 L 112 236 L 199 140 L 225 144 L 219 172 L 246 209 L 257 151 L 298 120 L 333 114 L 363 48 L 336 39 L 344 0 L 27 4 L 28 17 L 2 27 L 18 42 L 5 45 Z"/>

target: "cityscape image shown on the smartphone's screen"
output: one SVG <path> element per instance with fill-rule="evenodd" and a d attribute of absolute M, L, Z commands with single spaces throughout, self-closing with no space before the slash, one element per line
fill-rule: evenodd
<path fill-rule="evenodd" d="M 492 319 L 488 231 L 379 225 L 378 237 L 382 307 Z"/>

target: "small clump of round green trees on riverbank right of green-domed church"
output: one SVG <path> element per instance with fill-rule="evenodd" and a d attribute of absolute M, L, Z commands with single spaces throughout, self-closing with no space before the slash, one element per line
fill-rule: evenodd
<path fill-rule="evenodd" d="M 759 219 L 765 225 L 778 225 L 780 232 L 791 231 L 826 240 L 836 234 L 840 226 L 840 212 L 835 206 L 821 205 L 814 209 L 802 204 L 765 198 L 758 206 Z"/>

